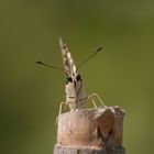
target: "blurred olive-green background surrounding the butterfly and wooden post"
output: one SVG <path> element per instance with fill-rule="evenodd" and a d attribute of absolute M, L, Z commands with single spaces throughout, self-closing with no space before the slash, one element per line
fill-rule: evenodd
<path fill-rule="evenodd" d="M 1 0 L 0 153 L 52 154 L 65 100 L 58 36 L 80 68 L 87 94 L 125 109 L 128 154 L 154 153 L 154 1 Z"/>

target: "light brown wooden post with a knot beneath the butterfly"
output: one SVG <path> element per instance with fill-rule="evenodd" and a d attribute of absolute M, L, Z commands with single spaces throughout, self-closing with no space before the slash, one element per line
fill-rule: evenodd
<path fill-rule="evenodd" d="M 124 154 L 123 116 L 119 107 L 61 114 L 54 154 Z"/>

